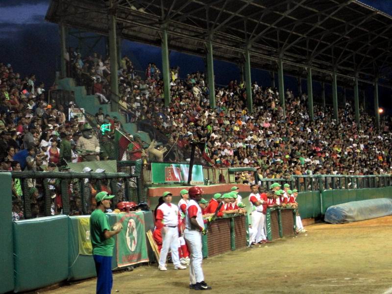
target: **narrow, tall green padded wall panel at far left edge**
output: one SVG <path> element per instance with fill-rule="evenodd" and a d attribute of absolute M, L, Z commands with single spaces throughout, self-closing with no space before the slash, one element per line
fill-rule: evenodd
<path fill-rule="evenodd" d="M 11 193 L 11 173 L 0 173 L 0 293 L 14 290 L 14 259 L 13 259 L 13 238 L 12 238 L 12 193 Z"/>

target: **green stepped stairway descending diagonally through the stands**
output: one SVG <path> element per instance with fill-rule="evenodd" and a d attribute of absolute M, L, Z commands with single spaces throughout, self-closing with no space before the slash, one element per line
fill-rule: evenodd
<path fill-rule="evenodd" d="M 57 81 L 59 90 L 73 91 L 75 95 L 75 103 L 79 108 L 83 108 L 85 113 L 95 116 L 98 112 L 99 107 L 102 107 L 104 114 L 110 115 L 111 118 L 117 117 L 118 120 L 123 124 L 123 129 L 131 134 L 139 134 L 141 139 L 147 143 L 151 142 L 149 135 L 146 132 L 138 132 L 136 123 L 125 123 L 125 117 L 123 114 L 117 111 L 111 110 L 110 104 L 99 104 L 98 98 L 94 95 L 87 95 L 86 88 L 84 86 L 76 86 L 75 81 L 72 78 L 63 78 Z"/>

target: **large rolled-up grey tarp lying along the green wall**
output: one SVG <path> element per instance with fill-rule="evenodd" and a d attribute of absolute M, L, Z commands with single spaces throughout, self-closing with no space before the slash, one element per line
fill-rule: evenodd
<path fill-rule="evenodd" d="M 343 223 L 364 221 L 389 215 L 392 215 L 392 199 L 378 198 L 330 206 L 325 212 L 324 221 Z"/>

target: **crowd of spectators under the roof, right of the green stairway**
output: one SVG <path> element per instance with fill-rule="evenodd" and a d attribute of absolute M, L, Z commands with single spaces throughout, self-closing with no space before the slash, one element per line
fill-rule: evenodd
<path fill-rule="evenodd" d="M 389 117 L 380 129 L 361 107 L 361 125 L 346 103 L 333 119 L 331 107 L 314 106 L 308 115 L 307 95 L 296 96 L 269 86 L 252 84 L 253 112 L 246 107 L 244 82 L 231 80 L 216 90 L 215 109 L 209 105 L 204 73 L 180 79 L 179 67 L 170 70 L 171 103 L 164 105 L 163 81 L 155 65 L 144 77 L 135 75 L 128 57 L 119 69 L 120 111 L 168 150 L 164 161 L 189 160 L 192 142 L 198 142 L 196 160 L 214 167 L 256 167 L 261 178 L 292 174 L 367 175 L 390 173 L 392 132 Z M 279 105 L 285 95 L 286 116 Z M 162 136 L 164 135 L 164 136 Z M 147 147 L 147 146 L 145 146 Z M 153 160 L 153 158 L 147 159 Z M 240 181 L 254 182 L 246 173 Z"/>

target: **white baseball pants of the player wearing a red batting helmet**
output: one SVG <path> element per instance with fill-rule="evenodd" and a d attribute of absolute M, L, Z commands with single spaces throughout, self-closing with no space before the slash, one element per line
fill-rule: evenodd
<path fill-rule="evenodd" d="M 189 279 L 191 284 L 204 281 L 203 269 L 201 263 L 203 261 L 201 232 L 196 230 L 184 230 L 184 238 L 191 251 L 191 261 L 189 263 Z"/>

